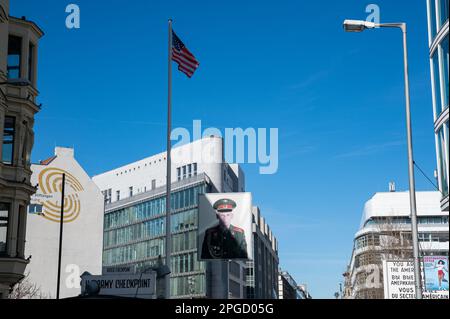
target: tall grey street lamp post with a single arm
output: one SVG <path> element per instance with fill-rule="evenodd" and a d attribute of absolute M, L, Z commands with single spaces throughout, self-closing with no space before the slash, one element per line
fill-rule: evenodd
<path fill-rule="evenodd" d="M 419 260 L 419 242 L 417 228 L 417 208 L 416 208 L 416 189 L 414 178 L 414 157 L 412 146 L 412 129 L 411 129 L 411 109 L 409 97 L 409 74 L 408 74 L 408 46 L 406 41 L 406 23 L 373 23 L 361 20 L 345 20 L 344 30 L 346 32 L 362 32 L 366 29 L 374 28 L 399 28 L 403 33 L 403 63 L 405 76 L 405 99 L 406 99 L 406 133 L 408 143 L 408 173 L 409 173 L 409 201 L 411 209 L 411 227 L 414 254 L 414 277 L 416 286 L 416 298 L 422 299 L 422 284 L 420 276 L 420 260 Z"/>

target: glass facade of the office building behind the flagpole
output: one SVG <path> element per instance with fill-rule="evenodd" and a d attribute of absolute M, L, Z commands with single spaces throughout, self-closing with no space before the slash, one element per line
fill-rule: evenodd
<path fill-rule="evenodd" d="M 170 268 L 173 297 L 204 296 L 206 293 L 205 263 L 197 258 L 197 201 L 198 194 L 205 190 L 206 184 L 202 182 L 172 193 Z M 133 265 L 139 272 L 154 265 L 159 255 L 164 256 L 165 201 L 163 194 L 106 213 L 103 266 Z"/>

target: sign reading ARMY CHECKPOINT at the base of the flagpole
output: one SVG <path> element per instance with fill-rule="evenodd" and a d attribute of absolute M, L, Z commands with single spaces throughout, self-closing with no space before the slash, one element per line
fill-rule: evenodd
<path fill-rule="evenodd" d="M 81 277 L 81 292 L 86 291 L 87 285 L 95 281 L 99 288 L 99 295 L 155 299 L 156 272 L 145 274 L 111 274 L 84 275 Z"/>

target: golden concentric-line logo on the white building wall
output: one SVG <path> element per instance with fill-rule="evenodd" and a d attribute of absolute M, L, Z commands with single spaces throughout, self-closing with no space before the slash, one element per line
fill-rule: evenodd
<path fill-rule="evenodd" d="M 32 198 L 29 213 L 44 217 L 52 222 L 61 220 L 62 174 L 66 174 L 64 188 L 64 223 L 73 222 L 80 215 L 79 193 L 83 186 L 72 174 L 59 168 L 46 168 L 39 173 L 39 189 Z"/>

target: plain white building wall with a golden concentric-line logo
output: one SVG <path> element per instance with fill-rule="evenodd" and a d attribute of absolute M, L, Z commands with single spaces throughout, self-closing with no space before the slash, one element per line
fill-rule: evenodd
<path fill-rule="evenodd" d="M 54 156 L 31 166 L 36 194 L 28 207 L 26 282 L 41 298 L 57 289 L 62 175 L 65 174 L 60 298 L 78 296 L 80 275 L 102 271 L 103 196 L 74 158 L 71 148 L 56 147 Z M 32 296 L 24 296 L 32 298 Z"/>

